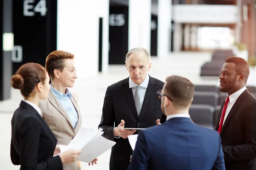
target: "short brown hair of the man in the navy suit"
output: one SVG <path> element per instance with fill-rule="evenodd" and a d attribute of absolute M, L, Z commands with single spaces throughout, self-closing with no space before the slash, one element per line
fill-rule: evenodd
<path fill-rule="evenodd" d="M 180 76 L 166 78 L 164 93 L 169 96 L 173 103 L 180 107 L 188 107 L 194 96 L 195 86 L 189 79 Z"/>

